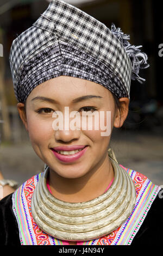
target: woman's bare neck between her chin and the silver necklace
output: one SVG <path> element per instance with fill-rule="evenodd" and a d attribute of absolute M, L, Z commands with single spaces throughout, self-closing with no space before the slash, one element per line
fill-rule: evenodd
<path fill-rule="evenodd" d="M 49 168 L 49 186 L 55 198 L 70 203 L 86 202 L 101 196 L 114 178 L 108 154 L 99 167 L 76 179 L 63 178 Z"/>

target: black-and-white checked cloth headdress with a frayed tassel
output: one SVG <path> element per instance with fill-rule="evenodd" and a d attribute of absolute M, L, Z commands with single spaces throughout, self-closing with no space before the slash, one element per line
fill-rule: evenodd
<path fill-rule="evenodd" d="M 13 42 L 10 66 L 16 99 L 25 102 L 39 84 L 71 76 L 101 84 L 117 98 L 129 97 L 131 79 L 145 81 L 147 68 L 141 46 L 129 35 L 111 29 L 61 0 L 52 1 L 39 19 Z"/>

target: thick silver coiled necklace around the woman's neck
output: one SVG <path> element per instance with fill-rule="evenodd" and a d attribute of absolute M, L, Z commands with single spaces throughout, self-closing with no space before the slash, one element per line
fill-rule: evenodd
<path fill-rule="evenodd" d="M 108 150 L 109 151 L 109 150 Z M 101 196 L 82 203 L 55 198 L 47 188 L 47 166 L 32 197 L 32 215 L 45 233 L 61 240 L 87 241 L 110 234 L 130 216 L 136 201 L 133 180 L 110 157 L 114 181 Z"/>

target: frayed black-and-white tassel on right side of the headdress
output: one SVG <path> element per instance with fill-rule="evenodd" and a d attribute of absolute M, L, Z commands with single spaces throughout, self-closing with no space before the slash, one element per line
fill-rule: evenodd
<path fill-rule="evenodd" d="M 141 52 L 140 50 L 140 47 L 142 47 L 142 45 L 131 45 L 128 41 L 130 40 L 130 36 L 124 34 L 121 31 L 121 28 L 116 28 L 113 23 L 111 25 L 111 32 L 118 38 L 118 40 L 120 40 L 121 44 L 123 45 L 130 58 L 132 64 L 131 80 L 137 80 L 140 83 L 145 82 L 146 80 L 139 76 L 140 69 L 146 69 L 149 67 L 149 64 L 147 64 L 147 54 Z"/>

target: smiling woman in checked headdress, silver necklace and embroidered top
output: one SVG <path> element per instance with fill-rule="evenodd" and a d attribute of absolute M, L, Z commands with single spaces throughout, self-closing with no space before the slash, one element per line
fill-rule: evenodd
<path fill-rule="evenodd" d="M 1 244 L 145 244 L 154 232 L 159 241 L 160 187 L 109 149 L 130 80 L 148 67 L 128 39 L 57 0 L 12 43 L 17 109 L 45 169 L 1 200 Z"/>

